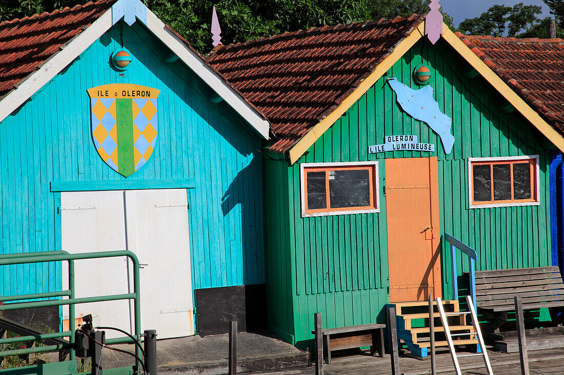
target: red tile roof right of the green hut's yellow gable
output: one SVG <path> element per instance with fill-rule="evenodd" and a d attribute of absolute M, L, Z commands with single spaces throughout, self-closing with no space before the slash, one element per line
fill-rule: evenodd
<path fill-rule="evenodd" d="M 456 35 L 564 135 L 564 40 Z"/>

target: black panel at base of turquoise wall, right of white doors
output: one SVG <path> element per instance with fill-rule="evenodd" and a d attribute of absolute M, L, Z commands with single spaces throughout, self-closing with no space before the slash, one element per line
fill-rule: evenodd
<path fill-rule="evenodd" d="M 237 322 L 238 332 L 266 329 L 266 285 L 196 289 L 196 316 L 200 336 L 229 332 Z"/>

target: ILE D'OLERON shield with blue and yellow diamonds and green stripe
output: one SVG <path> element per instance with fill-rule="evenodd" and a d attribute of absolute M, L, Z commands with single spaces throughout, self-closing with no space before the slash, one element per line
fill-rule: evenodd
<path fill-rule="evenodd" d="M 88 91 L 92 140 L 108 166 L 131 176 L 149 160 L 157 141 L 157 96 L 160 90 L 114 83 Z"/>

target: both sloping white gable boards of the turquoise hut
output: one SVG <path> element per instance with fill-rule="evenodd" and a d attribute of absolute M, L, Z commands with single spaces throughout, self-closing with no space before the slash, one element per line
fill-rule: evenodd
<path fill-rule="evenodd" d="M 139 1 L 137 0 L 137 2 Z M 144 6 L 140 2 L 139 5 Z M 90 47 L 107 32 L 112 25 L 112 9 L 110 8 L 87 29 L 78 34 L 77 37 L 71 39 L 61 51 L 56 52 L 55 55 L 47 59 L 41 65 L 41 68 L 28 75 L 24 81 L 17 85 L 15 90 L 8 92 L 6 97 L 0 101 L 0 122 L 20 105 L 24 104 L 41 87 L 51 81 L 61 70 L 72 63 L 86 48 Z M 263 119 L 262 115 L 227 84 L 219 74 L 214 72 L 200 56 L 190 50 L 190 48 L 187 48 L 184 42 L 171 32 L 150 10 L 147 10 L 147 27 L 157 39 L 160 39 L 171 51 L 177 54 L 188 68 L 193 70 L 212 90 L 223 97 L 223 100 L 231 108 L 249 122 L 250 126 L 260 136 L 264 139 L 269 138 L 270 124 L 268 121 Z"/>

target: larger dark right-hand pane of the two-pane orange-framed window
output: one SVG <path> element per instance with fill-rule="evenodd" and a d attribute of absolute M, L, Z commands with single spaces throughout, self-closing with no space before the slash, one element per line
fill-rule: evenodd
<path fill-rule="evenodd" d="M 370 205 L 368 169 L 329 171 L 331 208 L 366 207 Z"/>

